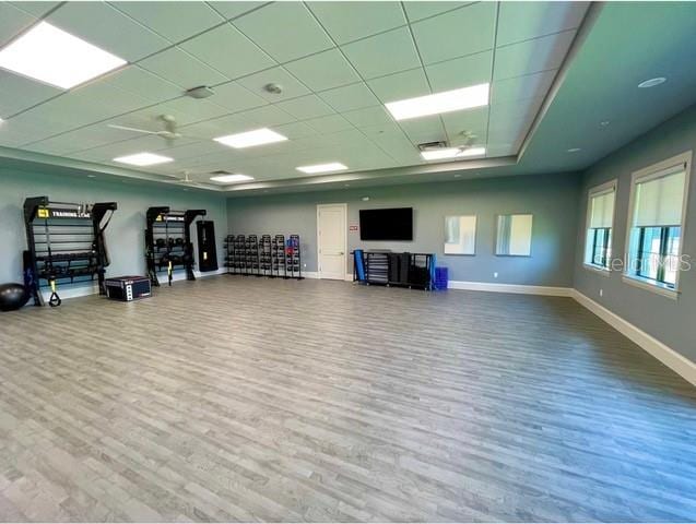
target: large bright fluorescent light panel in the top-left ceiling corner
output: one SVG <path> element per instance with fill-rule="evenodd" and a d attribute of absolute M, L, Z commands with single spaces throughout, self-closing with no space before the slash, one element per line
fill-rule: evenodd
<path fill-rule="evenodd" d="M 126 63 L 47 22 L 39 22 L 0 50 L 0 68 L 63 90 Z"/>

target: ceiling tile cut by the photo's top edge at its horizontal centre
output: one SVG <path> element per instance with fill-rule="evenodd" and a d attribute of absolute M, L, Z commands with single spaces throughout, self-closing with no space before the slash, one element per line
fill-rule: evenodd
<path fill-rule="evenodd" d="M 400 2 L 310 2 L 309 9 L 339 45 L 406 23 Z"/>

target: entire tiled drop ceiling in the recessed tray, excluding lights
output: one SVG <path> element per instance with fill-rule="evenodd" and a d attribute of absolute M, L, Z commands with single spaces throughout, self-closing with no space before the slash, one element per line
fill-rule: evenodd
<path fill-rule="evenodd" d="M 463 145 L 471 134 L 486 158 L 436 169 L 494 166 L 518 155 L 547 105 L 588 5 L 0 2 L 0 46 L 43 19 L 129 62 L 71 91 L 0 70 L 0 146 L 110 167 L 116 157 L 151 152 L 174 162 L 148 175 L 176 180 L 186 172 L 215 190 L 231 189 L 210 183 L 216 170 L 274 186 L 302 183 L 297 166 L 328 162 L 349 166 L 341 174 L 349 178 L 429 172 L 434 164 L 417 144 Z M 273 83 L 282 93 L 266 88 Z M 384 107 L 481 83 L 491 84 L 485 107 L 399 122 Z M 184 95 L 199 85 L 215 94 Z M 180 138 L 109 127 L 161 131 L 162 115 L 175 117 Z M 288 140 L 244 150 L 212 140 L 259 128 Z"/>

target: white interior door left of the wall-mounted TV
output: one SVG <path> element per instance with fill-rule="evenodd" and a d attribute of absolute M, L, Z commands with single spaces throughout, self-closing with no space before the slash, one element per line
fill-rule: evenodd
<path fill-rule="evenodd" d="M 345 279 L 347 204 L 317 205 L 319 278 Z"/>

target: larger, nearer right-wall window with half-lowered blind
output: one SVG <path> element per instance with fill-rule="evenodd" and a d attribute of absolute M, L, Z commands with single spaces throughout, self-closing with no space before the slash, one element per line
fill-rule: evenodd
<path fill-rule="evenodd" d="M 626 276 L 676 290 L 691 153 L 634 174 Z"/>

